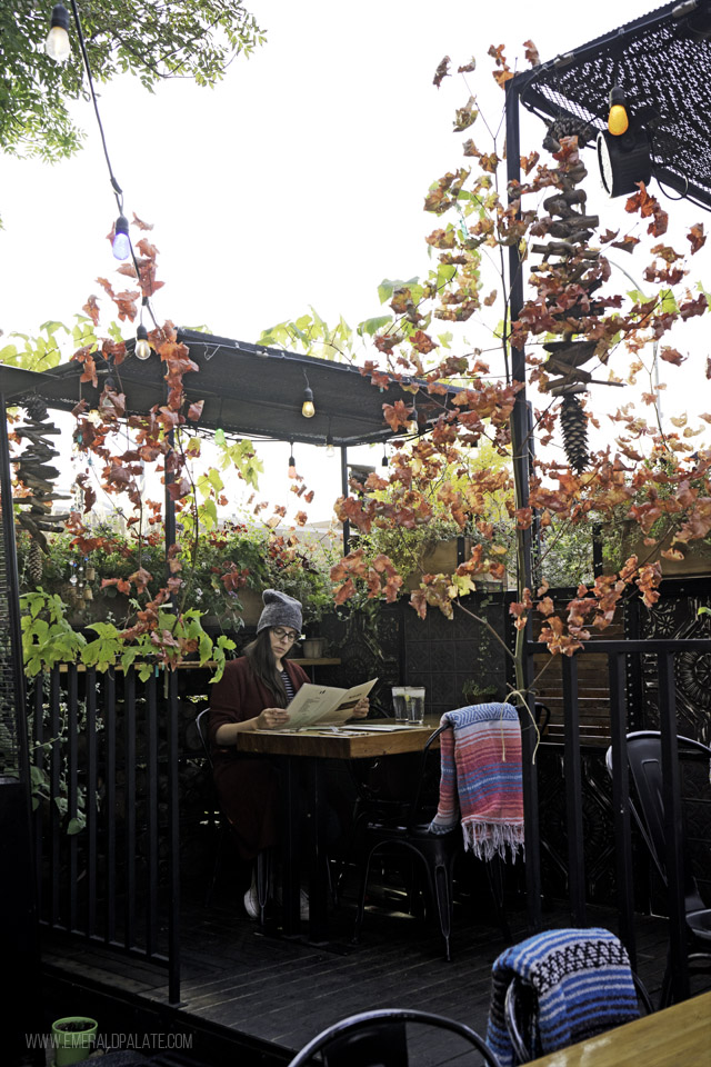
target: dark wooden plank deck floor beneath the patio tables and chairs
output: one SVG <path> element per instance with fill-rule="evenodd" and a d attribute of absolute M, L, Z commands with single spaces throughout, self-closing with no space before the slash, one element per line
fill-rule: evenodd
<path fill-rule="evenodd" d="M 361 943 L 349 945 L 352 898 L 333 914 L 334 941 L 349 950 L 331 951 L 302 941 L 264 937 L 246 917 L 241 899 L 221 887 L 210 908 L 188 901 L 182 924 L 180 1016 L 226 1027 L 252 1057 L 249 1064 L 286 1064 L 293 1051 L 326 1026 L 356 1011 L 410 1007 L 435 1011 L 485 1033 L 491 965 L 502 951 L 501 931 L 488 908 L 470 901 L 455 908 L 452 960 L 442 954 L 439 930 L 422 919 L 387 913 L 385 897 L 374 897 Z M 390 906 L 397 907 L 392 900 Z M 525 915 L 509 910 L 513 940 L 528 936 Z M 590 909 L 590 925 L 615 928 L 612 913 Z M 544 915 L 548 928 L 570 925 L 562 908 Z M 167 1003 L 166 976 L 158 968 L 73 941 L 61 954 L 46 938 L 44 960 L 66 974 L 126 990 L 153 1004 Z M 640 918 L 638 971 L 653 999 L 661 986 L 665 923 Z M 695 990 L 694 990 L 695 991 Z M 438 1033 L 418 1043 L 422 1067 L 454 1064 L 462 1046 Z M 468 1061 L 464 1059 L 464 1061 Z"/>

